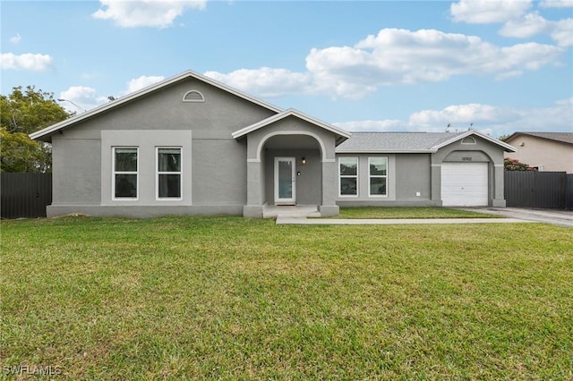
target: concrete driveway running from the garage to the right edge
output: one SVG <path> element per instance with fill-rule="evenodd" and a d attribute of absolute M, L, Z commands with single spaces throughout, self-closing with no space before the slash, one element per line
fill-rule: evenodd
<path fill-rule="evenodd" d="M 468 208 L 474 212 L 506 216 L 519 220 L 537 221 L 545 224 L 557 224 L 573 227 L 573 211 L 560 209 L 525 209 L 521 207 L 479 207 Z"/>

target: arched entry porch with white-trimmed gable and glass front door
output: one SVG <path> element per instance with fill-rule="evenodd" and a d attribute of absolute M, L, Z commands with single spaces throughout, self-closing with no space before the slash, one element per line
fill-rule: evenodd
<path fill-rule="evenodd" d="M 338 216 L 335 147 L 348 132 L 286 110 L 233 136 L 247 140 L 245 217 L 286 206 L 316 206 L 321 216 Z"/>

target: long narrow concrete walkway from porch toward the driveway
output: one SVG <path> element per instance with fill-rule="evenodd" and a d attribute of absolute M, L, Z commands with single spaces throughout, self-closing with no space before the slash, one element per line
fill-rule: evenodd
<path fill-rule="evenodd" d="M 535 223 L 517 218 L 306 218 L 277 216 L 277 224 L 516 224 Z"/>

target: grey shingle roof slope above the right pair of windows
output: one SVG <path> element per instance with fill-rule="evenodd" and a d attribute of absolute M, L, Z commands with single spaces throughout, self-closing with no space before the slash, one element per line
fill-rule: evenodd
<path fill-rule="evenodd" d="M 352 132 L 340 144 L 337 152 L 408 152 L 435 151 L 432 149 L 465 132 Z"/>

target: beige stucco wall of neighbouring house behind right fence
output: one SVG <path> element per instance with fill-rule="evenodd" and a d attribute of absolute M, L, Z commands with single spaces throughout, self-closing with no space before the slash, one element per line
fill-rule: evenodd
<path fill-rule="evenodd" d="M 573 174 L 573 146 L 570 144 L 526 135 L 517 135 L 508 143 L 517 148 L 517 152 L 506 152 L 506 157 L 530 166 L 543 166 L 543 171 Z"/>

